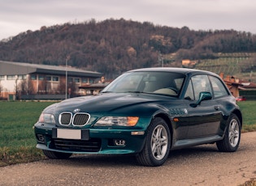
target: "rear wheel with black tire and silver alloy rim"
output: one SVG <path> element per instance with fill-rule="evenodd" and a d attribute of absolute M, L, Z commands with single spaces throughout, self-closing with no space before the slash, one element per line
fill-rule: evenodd
<path fill-rule="evenodd" d="M 221 152 L 234 152 L 237 150 L 241 139 L 241 123 L 235 114 L 229 116 L 228 126 L 223 140 L 216 142 Z"/>

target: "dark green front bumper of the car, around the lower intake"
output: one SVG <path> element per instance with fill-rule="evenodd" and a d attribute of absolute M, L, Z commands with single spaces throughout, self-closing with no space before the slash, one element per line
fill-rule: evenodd
<path fill-rule="evenodd" d="M 73 154 L 133 154 L 140 152 L 145 144 L 146 133 L 141 129 L 80 129 L 88 133 L 80 139 L 57 137 L 56 129 L 63 128 L 34 125 L 38 149 Z"/>

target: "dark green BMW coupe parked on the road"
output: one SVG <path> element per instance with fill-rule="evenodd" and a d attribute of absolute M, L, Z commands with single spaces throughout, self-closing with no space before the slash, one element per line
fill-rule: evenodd
<path fill-rule="evenodd" d="M 72 154 L 135 154 L 160 166 L 169 152 L 216 143 L 236 151 L 242 116 L 217 74 L 184 68 L 131 70 L 98 95 L 52 104 L 34 125 L 37 148 L 50 159 Z"/>

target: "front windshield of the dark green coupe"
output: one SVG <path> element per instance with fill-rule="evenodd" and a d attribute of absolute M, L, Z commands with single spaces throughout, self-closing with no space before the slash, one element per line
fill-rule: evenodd
<path fill-rule="evenodd" d="M 173 72 L 128 72 L 116 78 L 104 92 L 140 92 L 178 96 L 184 82 L 184 74 Z"/>

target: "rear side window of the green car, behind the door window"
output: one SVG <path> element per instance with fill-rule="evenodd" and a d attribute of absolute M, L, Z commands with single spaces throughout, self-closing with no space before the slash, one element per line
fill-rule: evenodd
<path fill-rule="evenodd" d="M 222 97 L 224 95 L 229 95 L 226 87 L 223 85 L 223 82 L 220 81 L 219 78 L 216 78 L 214 76 L 209 76 L 210 82 L 213 88 L 213 93 L 215 98 Z"/>

